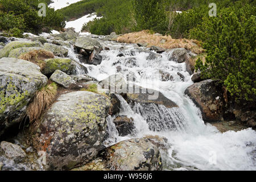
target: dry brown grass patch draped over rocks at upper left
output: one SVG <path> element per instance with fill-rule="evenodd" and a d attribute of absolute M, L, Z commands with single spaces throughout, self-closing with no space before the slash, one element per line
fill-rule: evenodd
<path fill-rule="evenodd" d="M 27 60 L 32 63 L 35 63 L 36 65 L 39 65 L 41 70 L 43 70 L 44 67 L 46 67 L 46 62 L 43 60 L 52 58 L 54 58 L 53 53 L 44 50 L 32 50 L 28 53 L 24 53 L 23 55 L 19 56 L 19 59 Z"/>

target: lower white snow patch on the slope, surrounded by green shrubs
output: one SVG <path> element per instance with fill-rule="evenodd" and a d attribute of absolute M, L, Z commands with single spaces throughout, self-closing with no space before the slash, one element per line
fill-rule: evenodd
<path fill-rule="evenodd" d="M 66 27 L 65 28 L 73 27 L 73 28 L 75 28 L 76 32 L 80 32 L 81 29 L 82 29 L 83 24 L 90 22 L 94 18 L 100 19 L 101 17 L 97 17 L 96 13 L 88 14 L 88 15 L 82 16 L 79 19 L 73 20 L 71 22 L 66 22 Z"/>

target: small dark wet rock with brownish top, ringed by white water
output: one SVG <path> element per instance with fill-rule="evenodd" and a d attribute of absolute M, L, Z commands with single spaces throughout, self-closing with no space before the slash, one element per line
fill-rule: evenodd
<path fill-rule="evenodd" d="M 134 119 L 127 118 L 127 115 L 118 115 L 113 122 L 119 135 L 122 137 L 131 134 L 135 129 Z"/>

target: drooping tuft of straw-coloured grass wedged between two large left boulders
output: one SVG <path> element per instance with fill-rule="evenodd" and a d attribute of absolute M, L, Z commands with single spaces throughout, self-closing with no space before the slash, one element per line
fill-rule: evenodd
<path fill-rule="evenodd" d="M 57 84 L 48 82 L 46 86 L 35 93 L 30 105 L 27 107 L 27 116 L 30 123 L 38 121 L 41 114 L 52 105 L 57 94 Z"/>

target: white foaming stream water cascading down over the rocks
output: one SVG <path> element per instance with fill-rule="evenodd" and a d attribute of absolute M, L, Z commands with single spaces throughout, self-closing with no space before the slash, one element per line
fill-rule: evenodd
<path fill-rule="evenodd" d="M 132 117 L 136 129 L 133 134 L 120 137 L 113 123 L 114 118 L 109 116 L 110 135 L 106 146 L 133 137 L 159 135 L 166 137 L 171 146 L 162 156 L 165 169 L 256 170 L 256 132 L 246 129 L 222 134 L 212 125 L 205 125 L 199 108 L 184 94 L 184 90 L 193 84 L 191 76 L 185 71 L 185 63 L 168 61 L 168 53 L 152 54 L 152 51 L 133 44 L 104 44 L 110 51 L 101 52 L 103 60 L 100 65 L 85 65 L 89 76 L 103 80 L 117 73 L 119 67 L 122 69 L 119 73 L 129 77 L 130 82 L 159 90 L 179 106 L 167 108 L 137 103 L 131 107 L 118 96 L 121 114 Z M 123 56 L 117 56 L 121 52 Z M 165 73 L 172 79 L 163 81 L 159 73 Z"/>

